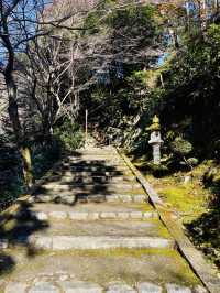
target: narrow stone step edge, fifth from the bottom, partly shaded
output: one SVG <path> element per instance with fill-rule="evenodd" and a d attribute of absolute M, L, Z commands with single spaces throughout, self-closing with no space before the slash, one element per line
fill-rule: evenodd
<path fill-rule="evenodd" d="M 87 184 L 87 183 L 68 183 L 65 182 L 52 182 L 46 183 L 42 185 L 42 188 L 46 191 L 55 191 L 55 192 L 64 192 L 64 191 L 72 191 L 74 193 L 80 193 L 86 191 L 106 191 L 108 193 L 114 192 L 114 191 L 140 191 L 142 189 L 141 185 L 139 183 L 94 183 L 94 184 Z"/>

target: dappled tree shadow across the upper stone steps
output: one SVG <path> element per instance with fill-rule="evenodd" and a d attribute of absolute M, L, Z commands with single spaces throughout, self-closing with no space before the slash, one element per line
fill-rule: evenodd
<path fill-rule="evenodd" d="M 111 163 L 105 160 L 106 154 L 103 160 L 96 160 L 98 154 L 91 154 L 89 156 L 91 160 L 82 160 L 82 153 L 79 152 L 75 155 L 77 160 L 75 163 L 66 159 L 53 171 L 44 186 L 34 193 L 35 202 L 74 206 L 79 202 L 105 202 L 106 196 L 117 192 L 117 180 L 124 176 L 123 170 L 127 170 L 123 162 L 118 165 L 120 161 L 118 155 L 112 156 Z M 121 182 L 119 181 L 119 184 Z M 131 184 L 130 180 L 128 184 Z"/>

